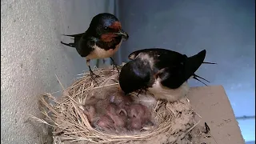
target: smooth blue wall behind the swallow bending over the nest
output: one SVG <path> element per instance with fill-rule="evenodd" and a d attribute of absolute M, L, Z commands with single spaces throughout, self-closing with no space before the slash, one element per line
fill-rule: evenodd
<path fill-rule="evenodd" d="M 254 0 L 119 1 L 119 17 L 130 34 L 119 62 L 134 50 L 162 47 L 183 54 L 206 49 L 196 74 L 210 85 L 223 85 L 237 117 L 255 114 Z M 190 80 L 190 86 L 202 86 Z M 246 140 L 255 139 L 255 120 L 239 121 Z"/>

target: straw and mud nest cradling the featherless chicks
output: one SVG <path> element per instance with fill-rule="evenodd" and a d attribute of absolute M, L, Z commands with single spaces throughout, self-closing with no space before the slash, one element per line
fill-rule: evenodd
<path fill-rule="evenodd" d="M 37 120 L 53 127 L 54 143 L 157 144 L 190 141 L 187 135 L 198 122 L 189 100 L 183 98 L 178 102 L 166 103 L 155 100 L 149 92 L 134 92 L 129 98 L 132 98 L 132 104 L 147 107 L 150 111 L 150 124 L 143 125 L 139 130 L 121 128 L 107 131 L 94 126 L 90 114 L 85 112 L 90 109 L 88 106 L 94 103 L 97 110 L 95 117 L 100 118 L 106 113 L 113 95 L 120 91 L 118 71 L 112 70 L 112 67 L 95 68 L 94 73 L 100 76 L 96 78 L 98 84 L 91 80 L 90 74 L 82 74 L 82 78 L 63 90 L 61 98 L 55 98 L 52 94 L 41 96 L 44 118 Z"/>

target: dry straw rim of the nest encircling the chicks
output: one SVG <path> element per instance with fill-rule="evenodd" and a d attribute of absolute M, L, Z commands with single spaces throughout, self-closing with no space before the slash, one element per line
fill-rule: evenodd
<path fill-rule="evenodd" d="M 110 66 L 112 68 L 112 66 Z M 110 69 L 110 67 L 108 69 Z M 163 134 L 163 133 L 170 133 L 171 132 L 171 126 L 174 126 L 174 119 L 178 118 L 177 115 L 175 115 L 175 112 L 172 110 L 172 104 L 167 102 L 165 112 L 169 114 L 169 119 L 165 119 L 163 122 L 161 122 L 157 128 L 153 130 L 146 130 L 140 134 L 135 134 L 135 135 L 127 135 L 127 134 L 106 134 L 102 131 L 95 130 L 91 125 L 90 122 L 88 121 L 88 118 L 86 114 L 82 112 L 82 109 L 79 107 L 79 105 L 82 104 L 83 100 L 82 98 L 77 98 L 80 94 L 80 97 L 84 97 L 86 100 L 88 94 L 85 92 L 87 91 L 93 91 L 95 89 L 101 89 L 103 87 L 107 86 L 117 86 L 118 82 L 112 83 L 110 85 L 103 85 L 107 81 L 110 81 L 111 78 L 114 76 L 118 75 L 118 70 L 108 70 L 106 68 L 94 68 L 94 72 L 99 71 L 99 74 L 102 74 L 102 72 L 108 72 L 110 73 L 110 77 L 108 78 L 103 78 L 103 80 L 100 81 L 99 86 L 96 86 L 94 81 L 90 81 L 90 73 L 85 73 L 82 74 L 82 78 L 78 78 L 71 86 L 68 88 L 63 89 L 63 94 L 61 98 L 57 99 L 55 98 L 52 94 L 46 93 L 42 94 L 40 96 L 40 102 L 41 102 L 41 112 L 44 116 L 44 118 L 39 119 L 37 118 L 38 122 L 42 122 L 45 124 L 48 124 L 52 127 L 54 127 L 54 137 L 55 138 L 60 138 L 58 135 L 58 130 L 64 131 L 64 135 L 66 134 L 66 137 L 63 137 L 59 139 L 59 141 L 87 141 L 91 143 L 124 143 L 124 142 L 130 142 L 130 141 L 141 141 L 141 140 L 146 140 L 148 138 L 152 138 L 154 136 L 157 136 L 158 134 Z M 106 77 L 106 75 L 104 75 Z M 103 76 L 103 77 L 104 77 Z M 59 79 L 58 79 L 59 81 Z M 90 82 L 88 82 L 90 81 Z M 61 84 L 61 82 L 59 82 Z M 62 84 L 61 84 L 62 85 Z M 78 88 L 78 93 L 74 93 L 74 88 Z M 86 87 L 87 86 L 87 87 Z M 72 92 L 73 90 L 73 92 Z M 72 95 L 70 95 L 72 94 Z M 51 101 L 51 102 L 50 102 Z M 189 100 L 186 98 L 185 101 Z M 69 103 L 69 105 L 66 105 Z M 155 108 L 160 108 L 162 106 L 160 101 L 157 102 Z M 70 107 L 65 107 L 65 106 L 70 106 Z M 73 112 L 72 112 L 73 110 Z M 155 109 L 156 110 L 156 109 Z M 66 113 L 65 113 L 66 112 Z M 190 107 L 190 112 L 193 114 L 197 114 L 194 112 L 194 110 Z M 52 114 L 50 114 L 52 113 Z M 64 114 L 65 113 L 65 114 Z M 63 114 L 66 115 L 63 117 Z M 199 115 L 198 115 L 199 116 Z M 199 116 L 200 117 L 200 116 Z M 34 117 L 35 118 L 35 117 Z M 60 120 L 61 119 L 61 120 Z M 69 125 L 73 128 L 73 130 L 68 130 L 63 123 L 68 120 Z M 61 121 L 61 122 L 58 122 Z M 66 121 L 67 122 L 67 121 Z M 177 138 L 174 140 L 176 142 L 178 138 L 185 137 L 185 135 L 194 128 L 194 126 L 197 126 L 198 122 L 193 122 L 193 125 L 191 125 L 185 132 L 178 134 Z M 70 132 L 68 132 L 70 131 Z M 68 136 L 70 134 L 70 136 Z"/>

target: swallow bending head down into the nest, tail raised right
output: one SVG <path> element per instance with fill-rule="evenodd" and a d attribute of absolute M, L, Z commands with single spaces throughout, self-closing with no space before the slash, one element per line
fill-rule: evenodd
<path fill-rule="evenodd" d="M 202 63 L 215 64 L 203 62 L 205 57 L 206 50 L 191 57 L 160 48 L 134 51 L 122 66 L 119 85 L 125 94 L 147 89 L 156 99 L 176 102 L 187 94 L 189 78 L 200 81 L 194 72 Z"/>

